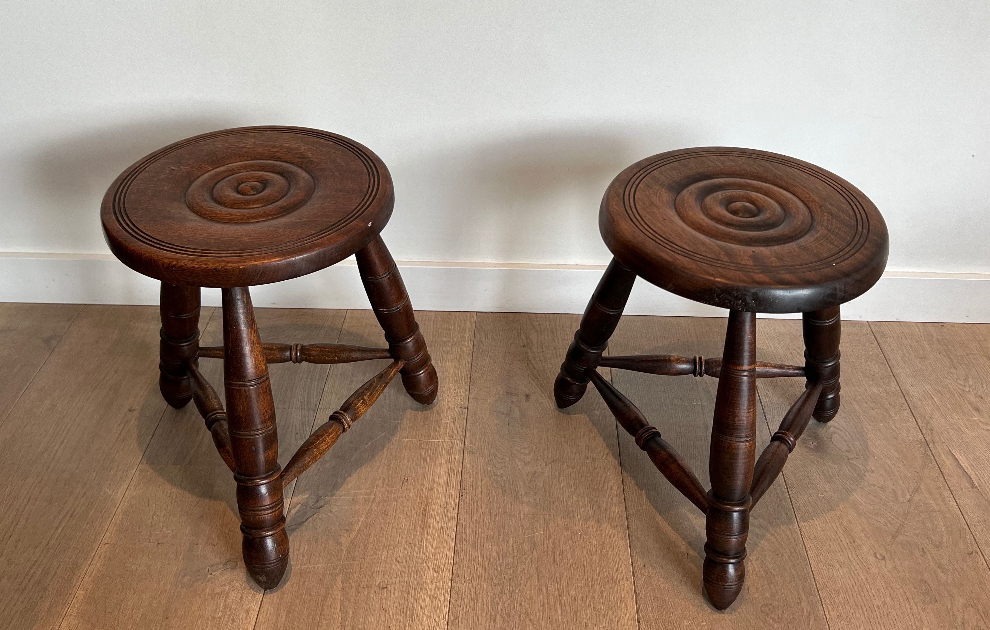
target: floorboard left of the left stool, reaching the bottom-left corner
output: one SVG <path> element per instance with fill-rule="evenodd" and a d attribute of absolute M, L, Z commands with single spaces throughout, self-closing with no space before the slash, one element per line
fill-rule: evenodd
<path fill-rule="evenodd" d="M 54 628 L 165 403 L 158 312 L 86 306 L 0 427 L 0 628 Z"/>

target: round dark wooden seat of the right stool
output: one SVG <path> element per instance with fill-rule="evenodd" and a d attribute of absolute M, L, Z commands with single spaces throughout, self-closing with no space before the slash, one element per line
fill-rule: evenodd
<path fill-rule="evenodd" d="M 866 196 L 800 159 L 708 147 L 647 157 L 605 193 L 599 226 L 649 282 L 722 308 L 816 311 L 853 299 L 887 262 Z"/>

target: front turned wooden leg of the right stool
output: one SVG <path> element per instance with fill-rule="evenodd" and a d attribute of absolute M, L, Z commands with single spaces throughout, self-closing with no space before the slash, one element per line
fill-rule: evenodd
<path fill-rule="evenodd" d="M 719 610 L 743 589 L 756 450 L 756 314 L 729 313 L 709 454 L 705 591 Z"/>

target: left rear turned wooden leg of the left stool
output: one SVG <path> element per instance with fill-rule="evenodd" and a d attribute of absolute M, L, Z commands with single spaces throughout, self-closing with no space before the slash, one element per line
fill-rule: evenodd
<path fill-rule="evenodd" d="M 192 400 L 186 362 L 199 350 L 199 287 L 161 283 L 158 388 L 176 409 Z"/>

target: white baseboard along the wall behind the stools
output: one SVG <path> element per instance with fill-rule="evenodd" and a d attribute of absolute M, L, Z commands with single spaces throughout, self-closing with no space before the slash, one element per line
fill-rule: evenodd
<path fill-rule="evenodd" d="M 580 313 L 604 265 L 399 262 L 421 310 Z M 368 308 L 353 261 L 251 289 L 255 306 Z M 0 254 L 0 301 L 155 304 L 158 283 L 110 255 Z M 220 304 L 219 289 L 203 303 Z M 638 280 L 631 315 L 724 316 Z M 848 319 L 990 323 L 990 273 L 888 271 L 842 307 Z"/>

